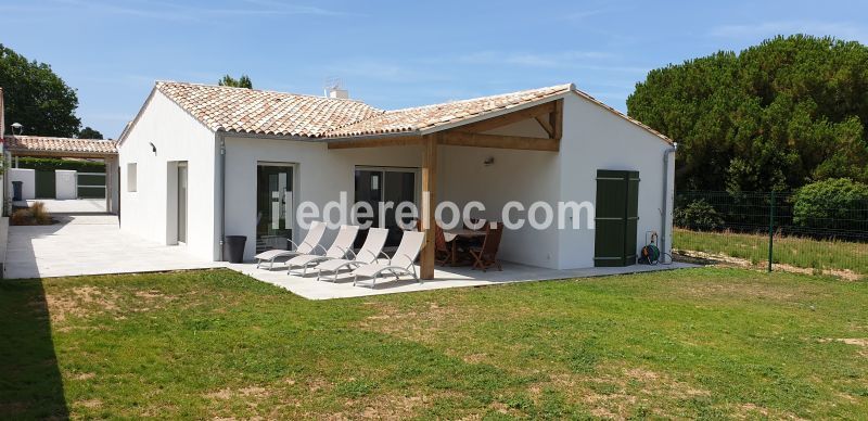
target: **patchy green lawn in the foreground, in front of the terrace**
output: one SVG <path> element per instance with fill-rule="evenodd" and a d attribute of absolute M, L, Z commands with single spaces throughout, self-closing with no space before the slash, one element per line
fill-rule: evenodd
<path fill-rule="evenodd" d="M 743 269 L 310 302 L 228 270 L 0 282 L 5 418 L 859 418 L 868 284 Z"/>

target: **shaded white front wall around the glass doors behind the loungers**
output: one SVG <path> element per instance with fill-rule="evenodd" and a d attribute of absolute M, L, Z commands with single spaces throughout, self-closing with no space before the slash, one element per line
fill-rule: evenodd
<path fill-rule="evenodd" d="M 321 142 L 227 136 L 226 234 L 247 237 L 246 259 L 252 258 L 256 250 L 256 168 L 259 163 L 296 164 L 293 175 L 297 189 L 293 192 L 296 205 L 307 201 L 322 208 L 326 203 L 337 201 L 340 192 L 345 191 L 352 206 L 356 166 L 418 168 L 422 163 L 422 149 L 394 146 L 330 151 Z M 337 219 L 336 213 L 332 219 Z M 298 241 L 305 232 L 295 228 L 293 235 Z M 328 244 L 333 234 L 328 232 L 323 241 Z"/>

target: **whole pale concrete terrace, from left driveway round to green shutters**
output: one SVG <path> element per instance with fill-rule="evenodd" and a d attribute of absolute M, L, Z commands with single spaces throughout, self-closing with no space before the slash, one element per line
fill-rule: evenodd
<path fill-rule="evenodd" d="M 435 279 L 421 284 L 405 276 L 400 280 L 384 278 L 371 289 L 367 288 L 370 280 L 363 280 L 365 286 L 353 286 L 353 277 L 348 273 L 340 275 L 334 283 L 318 282 L 316 270 L 310 270 L 307 277 L 301 277 L 286 275 L 285 267 L 281 264 L 277 264 L 272 270 L 266 270 L 257 269 L 252 263 L 203 260 L 187 253 L 183 245 L 164 245 L 122 232 L 117 216 L 104 213 L 104 200 L 40 202 L 46 203 L 46 207 L 60 224 L 10 227 L 7 279 L 227 267 L 308 299 L 330 299 L 693 267 L 676 263 L 668 266 L 635 265 L 625 268 L 554 270 L 505 261 L 502 271 L 483 272 L 471 270 L 470 267 L 438 266 L 434 273 Z"/>

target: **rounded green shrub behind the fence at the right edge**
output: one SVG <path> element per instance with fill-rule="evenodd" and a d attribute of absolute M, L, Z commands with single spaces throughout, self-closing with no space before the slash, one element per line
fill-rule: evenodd
<path fill-rule="evenodd" d="M 793 224 L 801 227 L 868 229 L 868 184 L 830 178 L 799 189 L 793 195 Z"/>

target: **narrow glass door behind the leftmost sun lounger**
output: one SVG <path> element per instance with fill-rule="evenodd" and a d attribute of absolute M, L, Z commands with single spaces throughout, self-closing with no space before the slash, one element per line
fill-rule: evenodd
<path fill-rule="evenodd" d="M 291 164 L 259 164 L 256 168 L 256 253 L 290 248 L 293 169 Z"/>

